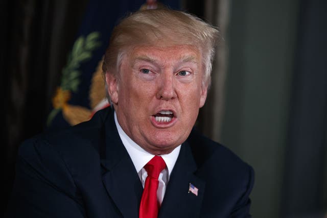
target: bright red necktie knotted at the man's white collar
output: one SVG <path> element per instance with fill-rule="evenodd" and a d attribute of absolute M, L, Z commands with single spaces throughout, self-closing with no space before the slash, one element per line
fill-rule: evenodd
<path fill-rule="evenodd" d="M 156 218 L 160 204 L 157 200 L 158 177 L 166 167 L 164 159 L 154 156 L 145 166 L 148 177 L 145 180 L 141 204 L 139 205 L 139 218 Z"/>

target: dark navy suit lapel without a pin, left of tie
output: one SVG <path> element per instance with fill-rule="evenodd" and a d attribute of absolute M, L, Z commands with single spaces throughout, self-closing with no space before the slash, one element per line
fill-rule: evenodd
<path fill-rule="evenodd" d="M 101 158 L 103 183 L 108 195 L 123 217 L 138 217 L 142 197 L 142 183 L 114 124 L 113 113 L 106 122 L 105 157 Z"/>

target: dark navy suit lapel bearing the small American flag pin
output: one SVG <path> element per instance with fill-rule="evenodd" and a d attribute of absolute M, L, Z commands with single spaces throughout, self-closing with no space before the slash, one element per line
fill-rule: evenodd
<path fill-rule="evenodd" d="M 189 144 L 185 142 L 171 174 L 158 217 L 200 216 L 205 182 L 194 175 L 196 169 Z M 189 192 L 190 183 L 198 188 L 197 196 Z"/>

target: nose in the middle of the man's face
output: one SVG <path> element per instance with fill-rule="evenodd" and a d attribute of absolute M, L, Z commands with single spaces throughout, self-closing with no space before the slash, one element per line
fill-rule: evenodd
<path fill-rule="evenodd" d="M 159 90 L 157 92 L 157 99 L 171 100 L 176 98 L 176 90 L 174 84 L 174 74 L 172 72 L 162 72 L 159 81 Z"/>

